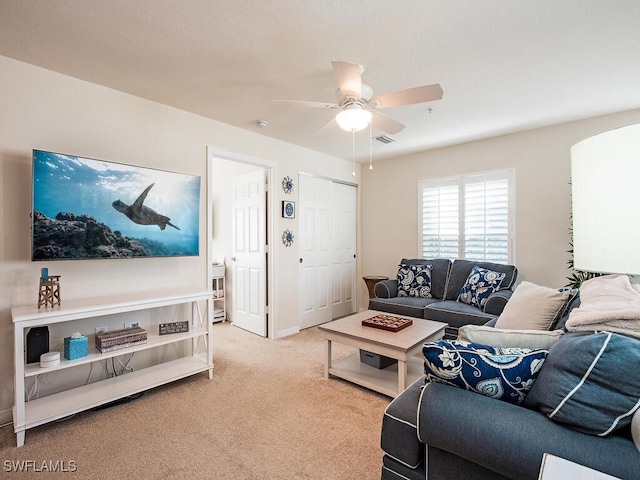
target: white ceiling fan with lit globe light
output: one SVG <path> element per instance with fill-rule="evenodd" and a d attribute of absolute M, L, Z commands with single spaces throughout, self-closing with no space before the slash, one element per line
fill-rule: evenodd
<path fill-rule="evenodd" d="M 357 63 L 332 61 L 333 74 L 338 82 L 336 90 L 337 103 L 308 102 L 304 100 L 276 100 L 302 107 L 335 108 L 341 111 L 336 121 L 343 130 L 357 132 L 372 123 L 376 128 L 395 134 L 405 128 L 395 118 L 380 110 L 415 103 L 431 102 L 442 98 L 442 87 L 439 84 L 422 85 L 397 92 L 373 96 L 369 85 L 362 83 L 364 68 Z M 331 122 L 330 122 L 331 123 Z"/>

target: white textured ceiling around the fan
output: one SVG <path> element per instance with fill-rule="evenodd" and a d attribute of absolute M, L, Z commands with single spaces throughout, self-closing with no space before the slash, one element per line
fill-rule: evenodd
<path fill-rule="evenodd" d="M 332 60 L 440 83 L 375 161 L 640 107 L 640 1 L 0 0 L 0 55 L 349 160 L 336 110 L 272 100 L 335 102 Z"/>

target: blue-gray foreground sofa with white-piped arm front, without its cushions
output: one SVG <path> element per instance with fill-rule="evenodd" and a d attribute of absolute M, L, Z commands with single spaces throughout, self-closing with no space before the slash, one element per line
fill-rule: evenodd
<path fill-rule="evenodd" d="M 535 480 L 546 452 L 621 479 L 640 472 L 640 452 L 625 435 L 587 435 L 540 412 L 422 379 L 387 408 L 382 449 L 382 480 Z"/>

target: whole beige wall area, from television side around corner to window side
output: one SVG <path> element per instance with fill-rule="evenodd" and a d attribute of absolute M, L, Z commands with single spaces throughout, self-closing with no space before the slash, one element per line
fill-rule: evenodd
<path fill-rule="evenodd" d="M 573 122 L 377 162 L 373 171 L 171 107 L 0 57 L 0 365 L 13 363 L 10 309 L 37 301 L 42 266 L 31 262 L 31 150 L 41 148 L 90 158 L 200 175 L 206 185 L 207 147 L 272 162 L 275 203 L 298 201 L 284 195 L 282 177 L 299 172 L 362 183 L 358 220 L 361 248 L 358 275 L 395 275 L 398 260 L 417 255 L 417 182 L 422 178 L 515 167 L 516 260 L 520 279 L 546 285 L 565 283 L 569 219 L 569 148 L 584 137 L 637 122 L 628 112 Z M 381 147 L 383 148 L 383 147 Z M 297 187 L 297 185 L 296 185 Z M 201 202 L 201 245 L 206 252 L 205 190 Z M 275 238 L 298 220 L 273 212 Z M 298 319 L 298 255 L 273 245 L 274 336 L 293 333 Z M 63 300 L 152 291 L 175 284 L 203 288 L 207 259 L 135 259 L 57 262 Z M 96 274 L 99 270 L 99 274 Z M 359 281 L 359 303 L 366 288 Z M 0 370 L 0 421 L 13 403 L 11 368 Z"/>

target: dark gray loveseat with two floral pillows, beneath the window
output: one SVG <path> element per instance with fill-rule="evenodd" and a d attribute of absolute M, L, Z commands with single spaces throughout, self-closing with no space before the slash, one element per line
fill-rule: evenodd
<path fill-rule="evenodd" d="M 431 298 L 398 296 L 398 280 L 384 280 L 376 283 L 375 297 L 369 300 L 369 309 L 447 323 L 447 338 L 455 338 L 458 328 L 463 325 L 484 325 L 497 318 L 511 297 L 518 276 L 518 269 L 513 265 L 472 260 L 403 258 L 400 264 L 432 266 Z M 488 297 L 483 308 L 458 301 L 460 290 L 474 266 L 505 274 L 500 290 Z"/>

